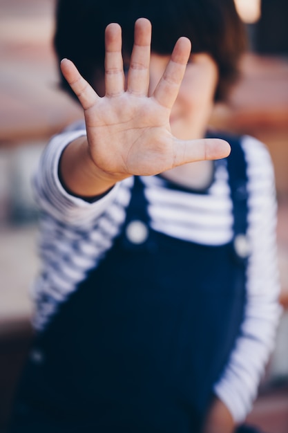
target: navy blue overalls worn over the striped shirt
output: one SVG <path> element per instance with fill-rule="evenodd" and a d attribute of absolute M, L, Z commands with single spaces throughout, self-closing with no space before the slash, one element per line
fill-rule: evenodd
<path fill-rule="evenodd" d="M 234 239 L 247 231 L 246 163 L 229 140 Z M 218 161 L 217 163 L 223 163 Z M 204 192 L 205 194 L 205 192 Z M 149 228 L 135 178 L 123 230 L 99 267 L 39 333 L 11 433 L 197 433 L 240 333 L 246 259 Z"/>

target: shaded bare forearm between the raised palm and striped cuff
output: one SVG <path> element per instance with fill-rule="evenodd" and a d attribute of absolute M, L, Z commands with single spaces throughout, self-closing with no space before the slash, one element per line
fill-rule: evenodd
<path fill-rule="evenodd" d="M 84 198 L 104 194 L 118 180 L 95 165 L 84 136 L 76 138 L 64 149 L 59 163 L 59 177 L 68 192 Z"/>

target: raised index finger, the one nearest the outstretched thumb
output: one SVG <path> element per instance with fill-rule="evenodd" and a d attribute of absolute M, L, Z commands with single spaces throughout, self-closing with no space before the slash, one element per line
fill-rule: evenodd
<path fill-rule="evenodd" d="M 153 98 L 166 108 L 171 109 L 177 98 L 190 55 L 190 40 L 186 37 L 180 37 L 174 46 L 164 74 L 153 93 Z"/>

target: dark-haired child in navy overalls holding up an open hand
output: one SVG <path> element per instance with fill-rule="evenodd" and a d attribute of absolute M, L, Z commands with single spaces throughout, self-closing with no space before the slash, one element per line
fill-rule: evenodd
<path fill-rule="evenodd" d="M 10 432 L 231 433 L 279 315 L 269 155 L 207 131 L 244 50 L 233 0 L 59 0 L 55 47 L 85 123 L 35 178 L 43 270 Z"/>

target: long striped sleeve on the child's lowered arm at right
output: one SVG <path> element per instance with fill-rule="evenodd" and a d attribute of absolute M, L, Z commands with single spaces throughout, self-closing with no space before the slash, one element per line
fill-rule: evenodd
<path fill-rule="evenodd" d="M 280 317 L 276 251 L 276 193 L 273 166 L 262 143 L 242 141 L 247 159 L 251 256 L 247 268 L 247 304 L 241 333 L 215 394 L 240 422 L 249 413 L 273 349 Z"/>

